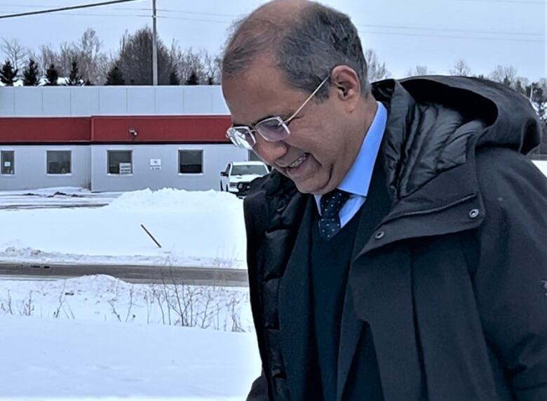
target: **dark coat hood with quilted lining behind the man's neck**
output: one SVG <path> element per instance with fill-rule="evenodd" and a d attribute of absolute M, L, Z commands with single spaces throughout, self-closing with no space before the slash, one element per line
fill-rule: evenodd
<path fill-rule="evenodd" d="M 501 84 L 467 77 L 413 77 L 372 84 L 389 117 L 384 135 L 388 185 L 397 202 L 478 147 L 527 153 L 541 142 L 528 100 Z"/>

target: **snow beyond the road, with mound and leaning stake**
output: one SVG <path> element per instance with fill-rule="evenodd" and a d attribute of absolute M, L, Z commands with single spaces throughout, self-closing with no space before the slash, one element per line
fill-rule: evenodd
<path fill-rule="evenodd" d="M 0 208 L 21 199 L 63 207 L 0 209 L 0 262 L 245 268 L 243 202 L 226 192 L 163 189 L 120 195 L 53 188 L 32 194 L 0 192 Z M 67 207 L 82 199 L 108 205 Z"/>

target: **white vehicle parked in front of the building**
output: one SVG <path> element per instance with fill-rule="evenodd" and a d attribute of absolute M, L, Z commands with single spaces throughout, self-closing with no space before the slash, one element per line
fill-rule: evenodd
<path fill-rule="evenodd" d="M 220 190 L 245 196 L 249 190 L 250 182 L 267 173 L 269 173 L 268 167 L 263 162 L 229 163 L 226 170 L 220 173 Z"/>

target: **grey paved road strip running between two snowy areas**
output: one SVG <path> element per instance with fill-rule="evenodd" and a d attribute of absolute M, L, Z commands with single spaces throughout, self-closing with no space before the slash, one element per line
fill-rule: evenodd
<path fill-rule="evenodd" d="M 191 285 L 247 287 L 247 270 L 131 265 L 30 265 L 0 263 L 0 280 L 61 280 L 83 275 L 110 275 L 131 283 L 176 282 Z"/>

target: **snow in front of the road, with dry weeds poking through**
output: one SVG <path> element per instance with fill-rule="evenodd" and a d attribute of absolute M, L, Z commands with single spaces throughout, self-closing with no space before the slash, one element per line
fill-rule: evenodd
<path fill-rule="evenodd" d="M 260 370 L 245 289 L 0 281 L 0 327 L 0 400 L 243 400 Z"/>

